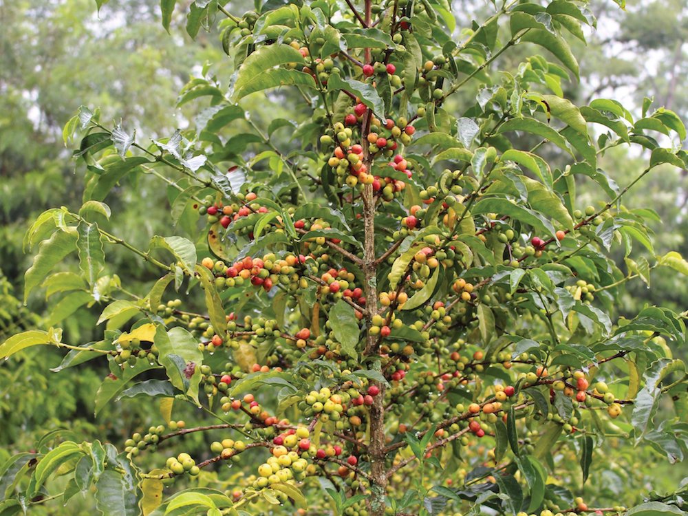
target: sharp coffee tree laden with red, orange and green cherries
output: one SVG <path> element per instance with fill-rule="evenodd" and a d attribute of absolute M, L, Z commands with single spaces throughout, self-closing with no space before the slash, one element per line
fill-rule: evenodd
<path fill-rule="evenodd" d="M 160 414 L 123 442 L 56 432 L 14 455 L 0 513 L 91 492 L 105 515 L 685 514 L 678 478 L 624 487 L 688 453 L 686 314 L 623 317 L 617 300 L 655 268 L 688 274 L 654 253 L 652 208 L 623 204 L 688 166 L 686 130 L 651 100 L 638 118 L 566 99 L 585 3 L 498 1 L 470 22 L 447 0 L 222 4 L 191 3 L 186 29 L 217 25 L 230 83 L 206 66 L 179 98 L 206 107 L 159 140 L 82 107 L 64 137 L 80 138 L 83 206 L 26 233 L 25 297 L 62 296 L 61 318 L 98 305 L 102 340 L 50 327 L 0 345 L 65 350 L 63 375 L 107 361 L 96 413 L 152 397 Z M 532 55 L 495 72 L 517 45 Z M 251 94 L 308 116 L 263 124 Z M 617 185 L 597 162 L 620 145 L 648 162 Z M 149 248 L 106 229 L 109 192 L 142 175 L 171 192 L 140 206 L 171 220 Z M 583 182 L 597 204 L 577 202 Z M 148 292 L 108 268 L 110 246 L 157 270 Z M 54 272 L 73 252 L 78 270 Z M 193 422 L 173 418 L 188 404 Z M 189 433 L 208 436 L 195 457 Z"/>

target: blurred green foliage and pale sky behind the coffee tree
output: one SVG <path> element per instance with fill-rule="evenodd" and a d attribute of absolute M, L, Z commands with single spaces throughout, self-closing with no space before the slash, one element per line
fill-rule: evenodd
<path fill-rule="evenodd" d="M 195 41 L 184 32 L 188 9 L 180 6 L 188 3 L 179 3 L 171 34 L 166 34 L 154 0 L 111 0 L 100 12 L 93 0 L 0 0 L 0 341 L 23 327 L 58 323 L 65 327 L 65 341 L 73 344 L 92 341 L 102 332 L 95 325 L 97 306 L 67 313 L 64 321 L 50 321 L 44 314 L 60 299 L 46 301 L 33 294 L 26 307 L 19 301 L 23 272 L 31 261 L 22 248 L 23 233 L 46 208 L 80 206 L 83 170 L 76 167 L 62 138 L 63 125 L 80 105 L 100 107 L 103 122 L 122 120 L 147 142 L 186 127 L 202 108 L 193 103 L 175 107 L 190 72 L 200 75 L 206 61 L 218 63 L 211 73 L 227 85 L 233 69 L 217 32 L 201 30 Z M 482 13 L 488 12 L 488 3 L 481 0 L 454 4 L 460 25 L 465 25 L 463 13 L 483 19 Z M 687 4 L 631 0 L 623 12 L 611 0 L 595 0 L 590 9 L 598 19 L 598 32 L 586 34 L 588 46 L 574 42 L 581 80 L 566 86 L 566 96 L 577 103 L 618 98 L 634 115 L 639 115 L 644 97 L 654 97 L 654 107 L 663 105 L 688 118 Z M 252 3 L 230 2 L 227 8 L 242 14 Z M 525 45 L 519 49 L 505 54 L 498 66 L 515 69 L 530 55 L 528 50 L 539 52 Z M 297 103 L 296 97 L 267 103 L 261 99 L 252 104 L 249 100 L 245 107 L 253 118 L 270 120 L 284 116 L 283 106 Z M 453 108 L 460 112 L 460 104 L 459 99 Z M 306 116 L 305 109 L 286 114 L 297 121 Z M 288 146 L 288 135 L 281 138 L 281 146 Z M 548 158 L 563 164 L 557 155 Z M 599 166 L 623 185 L 643 168 L 644 160 L 647 156 L 619 147 Z M 169 204 L 159 182 L 147 176 L 135 181 L 114 189 L 106 202 L 113 211 L 111 232 L 145 248 L 152 235 L 171 234 Z M 603 198 L 591 184 L 583 183 L 580 189 L 581 204 Z M 656 169 L 625 202 L 660 214 L 663 223 L 652 227 L 658 253 L 677 250 L 688 256 L 688 171 Z M 653 257 L 647 258 L 652 263 Z M 626 270 L 621 253 L 618 259 Z M 130 290 L 156 279 L 135 256 L 119 249 L 109 251 L 109 260 L 109 272 L 126 275 Z M 688 308 L 688 286 L 674 275 L 654 275 L 648 290 L 636 279 L 627 284 L 619 313 L 635 313 L 646 303 L 682 312 Z M 140 400 L 121 402 L 94 418 L 93 393 L 107 366 L 98 369 L 90 363 L 51 373 L 49 368 L 60 361 L 60 353 L 42 351 L 0 365 L 0 462 L 10 453 L 30 449 L 36 438 L 54 428 L 74 429 L 85 440 L 122 442 L 133 431 L 160 422 L 157 407 Z M 183 417 L 180 412 L 175 417 Z M 192 413 L 188 416 L 193 418 Z M 200 444 L 193 436 L 187 442 L 187 448 Z M 656 485 L 648 488 L 675 488 L 678 479 L 658 473 Z M 86 505 L 83 510 L 88 513 Z"/>

